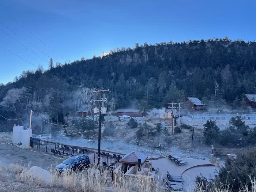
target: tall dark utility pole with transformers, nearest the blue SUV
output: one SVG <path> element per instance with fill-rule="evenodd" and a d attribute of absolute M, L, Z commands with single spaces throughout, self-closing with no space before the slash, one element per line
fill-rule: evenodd
<path fill-rule="evenodd" d="M 103 102 L 103 99 L 101 98 L 103 92 L 110 92 L 109 90 L 98 90 L 93 91 L 93 93 L 99 93 L 100 99 L 99 100 L 93 100 L 91 99 L 91 103 L 93 102 L 99 102 L 99 135 L 98 135 L 98 167 L 99 167 L 99 173 L 101 173 L 101 103 Z M 104 100 L 106 101 L 106 99 Z"/>

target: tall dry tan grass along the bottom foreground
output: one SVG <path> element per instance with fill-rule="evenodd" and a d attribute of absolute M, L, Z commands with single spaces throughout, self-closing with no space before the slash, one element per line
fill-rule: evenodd
<path fill-rule="evenodd" d="M 28 174 L 29 166 L 22 166 L 20 164 L 11 164 L 8 168 L 0 166 L 0 177 L 6 175 L 8 172 L 15 175 L 17 181 L 35 186 L 46 188 L 59 188 L 67 189 L 74 192 L 105 192 L 107 187 L 112 187 L 116 192 L 162 192 L 162 184 L 152 181 L 145 176 L 138 177 L 125 177 L 123 173 L 118 172 L 114 174 L 114 180 L 109 177 L 109 171 L 102 171 L 101 175 L 97 170 L 97 167 L 90 167 L 89 169 L 83 169 L 79 172 L 67 171 L 61 175 L 50 170 L 50 182 L 45 183 L 42 178 L 35 178 Z M 2 180 L 2 179 L 1 179 Z M 249 181 L 248 181 L 249 182 Z M 255 178 L 251 179 L 251 188 L 245 184 L 243 189 L 239 192 L 256 192 Z M 225 184 L 220 187 L 207 189 L 207 192 L 230 192 L 229 185 Z M 184 188 L 188 192 L 205 192 L 203 187 L 190 186 Z"/>

